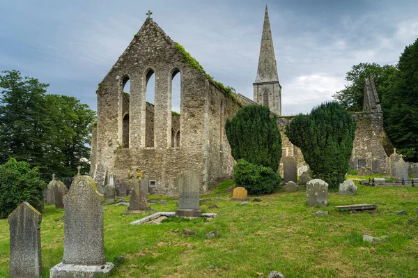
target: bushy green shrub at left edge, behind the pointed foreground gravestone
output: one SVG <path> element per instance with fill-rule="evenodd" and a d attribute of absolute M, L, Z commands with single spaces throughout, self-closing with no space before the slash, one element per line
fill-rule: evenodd
<path fill-rule="evenodd" d="M 38 169 L 10 158 L 0 165 L 0 218 L 6 218 L 22 201 L 42 212 L 44 188 Z"/>

